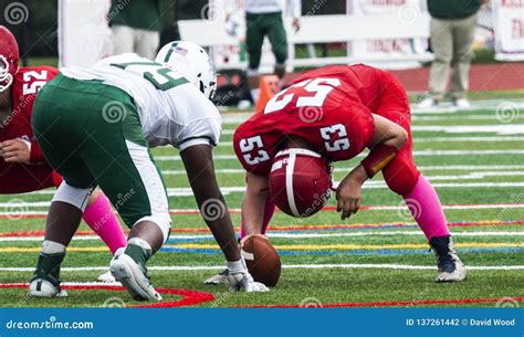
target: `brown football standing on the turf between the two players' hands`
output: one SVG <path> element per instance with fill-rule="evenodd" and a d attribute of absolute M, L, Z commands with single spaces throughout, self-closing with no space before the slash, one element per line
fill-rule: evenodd
<path fill-rule="evenodd" d="M 248 238 L 242 248 L 242 256 L 254 281 L 266 286 L 275 286 L 279 283 L 280 256 L 268 239 L 262 235 Z"/>

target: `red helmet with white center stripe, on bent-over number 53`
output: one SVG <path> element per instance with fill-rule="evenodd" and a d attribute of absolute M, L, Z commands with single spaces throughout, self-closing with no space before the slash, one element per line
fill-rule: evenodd
<path fill-rule="evenodd" d="M 276 154 L 270 173 L 270 198 L 285 213 L 307 218 L 331 197 L 329 164 L 321 155 L 303 148 Z"/>

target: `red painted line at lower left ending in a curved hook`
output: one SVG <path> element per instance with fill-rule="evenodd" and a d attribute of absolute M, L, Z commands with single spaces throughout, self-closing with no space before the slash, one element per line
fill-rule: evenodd
<path fill-rule="evenodd" d="M 27 288 L 28 283 L 0 283 L 0 288 Z M 111 292 L 124 292 L 125 288 L 118 285 L 63 285 L 63 289 L 74 289 L 74 291 L 111 291 Z M 191 306 L 201 304 L 205 302 L 214 301 L 214 296 L 211 293 L 188 291 L 188 289 L 170 289 L 170 288 L 156 288 L 160 294 L 169 294 L 175 296 L 180 296 L 182 298 L 178 301 L 166 301 L 166 302 L 156 302 L 148 304 L 139 305 L 126 305 L 126 307 L 140 307 L 140 308 L 153 308 L 153 307 L 180 307 L 180 306 Z"/>

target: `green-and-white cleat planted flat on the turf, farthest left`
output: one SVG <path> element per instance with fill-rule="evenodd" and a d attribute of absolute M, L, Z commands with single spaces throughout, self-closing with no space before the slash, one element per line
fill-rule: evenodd
<path fill-rule="evenodd" d="M 60 287 L 60 264 L 65 252 L 56 254 L 40 253 L 36 270 L 29 283 L 29 294 L 34 297 L 65 297 L 67 293 Z"/>

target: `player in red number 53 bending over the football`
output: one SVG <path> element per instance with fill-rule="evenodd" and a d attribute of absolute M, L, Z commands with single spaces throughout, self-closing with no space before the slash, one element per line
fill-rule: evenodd
<path fill-rule="evenodd" d="M 437 255 L 436 281 L 465 280 L 439 197 L 415 165 L 410 120 L 406 91 L 385 71 L 357 64 L 300 76 L 234 134 L 235 154 L 248 171 L 241 236 L 264 234 L 275 203 L 294 217 L 318 211 L 329 193 L 329 164 L 367 147 L 367 157 L 336 189 L 342 219 L 358 211 L 363 183 L 382 171 Z"/>

